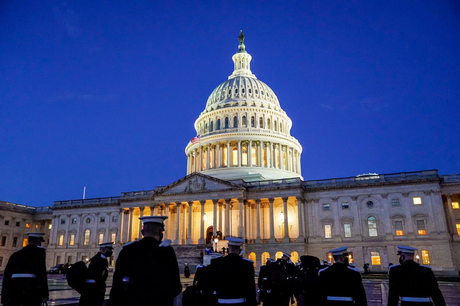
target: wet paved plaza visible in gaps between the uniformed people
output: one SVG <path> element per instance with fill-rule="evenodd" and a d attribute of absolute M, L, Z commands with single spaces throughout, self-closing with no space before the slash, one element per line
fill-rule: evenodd
<path fill-rule="evenodd" d="M 113 273 L 110 273 L 113 275 Z M 193 282 L 193 274 L 190 278 L 181 277 L 182 285 L 185 289 Z M 3 276 L 0 276 L 2 279 Z M 380 276 L 380 278 L 382 278 Z M 256 279 L 257 281 L 257 279 Z M 106 298 L 108 299 L 112 276 L 107 279 Z M 346 282 L 344 282 L 346 285 Z M 388 298 L 388 280 L 387 279 L 363 279 L 364 289 L 368 299 L 368 306 L 386 306 Z M 50 290 L 50 299 L 48 305 L 77 305 L 80 295 L 67 284 L 64 275 L 48 275 L 48 286 Z M 439 281 L 439 287 L 443 292 L 446 305 L 458 306 L 460 300 L 460 282 L 456 278 L 454 281 Z M 327 288 L 325 289 L 327 290 Z M 181 295 L 176 299 L 176 306 L 182 306 Z M 263 304 L 262 304 L 263 305 Z M 297 304 L 294 304 L 297 305 Z"/>

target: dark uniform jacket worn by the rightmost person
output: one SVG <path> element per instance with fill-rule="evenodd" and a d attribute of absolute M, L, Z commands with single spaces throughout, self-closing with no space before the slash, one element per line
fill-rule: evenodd
<path fill-rule="evenodd" d="M 413 260 L 407 260 L 402 265 L 391 266 L 388 275 L 390 276 L 388 306 L 397 306 L 400 296 L 431 297 L 435 306 L 446 305 L 430 267 L 422 266 Z M 427 303 L 407 303 L 414 306 L 427 305 Z M 404 305 L 404 302 L 401 302 L 401 305 Z"/>

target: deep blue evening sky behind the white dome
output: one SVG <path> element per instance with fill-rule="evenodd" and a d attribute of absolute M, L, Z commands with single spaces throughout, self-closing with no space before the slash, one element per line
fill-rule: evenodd
<path fill-rule="evenodd" d="M 0 200 L 185 176 L 239 30 L 293 121 L 305 180 L 460 173 L 458 1 L 95 2 L 0 2 Z"/>

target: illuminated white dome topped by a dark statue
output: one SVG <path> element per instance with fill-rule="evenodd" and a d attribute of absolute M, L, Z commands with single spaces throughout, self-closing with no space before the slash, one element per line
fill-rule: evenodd
<path fill-rule="evenodd" d="M 195 121 L 201 143 L 190 141 L 185 148 L 187 174 L 245 181 L 302 178 L 302 146 L 290 135 L 292 121 L 273 90 L 251 72 L 241 31 L 238 40 L 233 73 L 209 95 Z"/>

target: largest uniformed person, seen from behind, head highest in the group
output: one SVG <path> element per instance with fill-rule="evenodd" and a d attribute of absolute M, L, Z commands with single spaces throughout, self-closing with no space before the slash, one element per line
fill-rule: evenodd
<path fill-rule="evenodd" d="M 173 306 L 182 291 L 171 240 L 163 239 L 166 216 L 139 218 L 144 238 L 123 245 L 115 265 L 109 306 Z"/>

